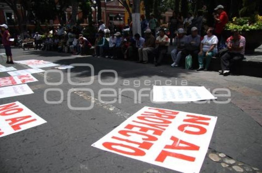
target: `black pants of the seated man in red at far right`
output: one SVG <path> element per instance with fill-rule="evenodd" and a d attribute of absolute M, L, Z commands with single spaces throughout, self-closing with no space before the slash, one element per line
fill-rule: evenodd
<path fill-rule="evenodd" d="M 243 58 L 244 55 L 240 53 L 225 53 L 223 56 L 221 56 L 222 70 L 230 70 L 230 67 L 233 65 L 234 61 L 243 60 Z"/>

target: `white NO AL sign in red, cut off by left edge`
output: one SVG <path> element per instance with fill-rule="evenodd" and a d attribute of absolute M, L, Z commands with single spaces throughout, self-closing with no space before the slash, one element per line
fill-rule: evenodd
<path fill-rule="evenodd" d="M 0 105 L 0 137 L 46 122 L 20 102 Z"/>

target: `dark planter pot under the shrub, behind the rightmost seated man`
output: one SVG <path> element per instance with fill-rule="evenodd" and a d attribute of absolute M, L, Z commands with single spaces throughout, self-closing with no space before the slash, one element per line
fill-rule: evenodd
<path fill-rule="evenodd" d="M 241 35 L 246 38 L 245 54 L 253 54 L 255 49 L 262 44 L 262 30 L 241 31 Z M 223 37 L 231 36 L 231 31 L 225 30 Z"/>

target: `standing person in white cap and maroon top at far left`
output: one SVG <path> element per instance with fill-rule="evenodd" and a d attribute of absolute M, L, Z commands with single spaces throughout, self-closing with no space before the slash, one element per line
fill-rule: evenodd
<path fill-rule="evenodd" d="M 12 52 L 11 52 L 11 42 L 9 41 L 10 38 L 10 33 L 7 30 L 8 26 L 6 24 L 0 25 L 1 27 L 1 37 L 2 37 L 2 44 L 4 45 L 5 49 L 6 49 L 6 63 L 8 64 L 13 64 L 13 58 L 12 58 Z M 9 61 L 9 57 L 10 57 L 10 61 Z"/>

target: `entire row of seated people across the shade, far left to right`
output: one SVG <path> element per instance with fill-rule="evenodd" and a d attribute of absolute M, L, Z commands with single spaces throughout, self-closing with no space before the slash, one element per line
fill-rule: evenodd
<path fill-rule="evenodd" d="M 171 67 L 182 65 L 181 60 L 190 55 L 192 65 L 190 69 L 197 71 L 207 71 L 211 58 L 218 53 L 218 38 L 213 35 L 213 28 L 207 30 L 207 35 L 201 38 L 198 35 L 197 27 L 190 29 L 191 34 L 186 35 L 183 28 L 176 31 L 171 58 Z M 74 34 L 70 29 L 61 31 L 61 26 L 53 37 L 47 36 L 43 42 L 43 50 L 57 50 L 58 52 L 69 52 L 73 54 L 87 55 L 92 47 L 87 38 L 82 34 Z M 150 58 L 154 58 L 154 65 L 159 66 L 167 57 L 169 43 L 171 42 L 164 29 L 159 30 L 158 37 L 155 38 L 150 29 L 143 33 L 144 38 L 136 33 L 120 32 L 110 33 L 109 39 L 105 38 L 104 32 L 99 31 L 94 44 L 95 57 L 105 57 L 112 59 L 136 60 L 138 63 L 149 63 Z M 39 45 L 39 34 L 35 34 L 36 48 Z M 245 38 L 238 31 L 232 31 L 232 36 L 227 39 L 227 51 L 221 58 L 221 68 L 219 74 L 228 75 L 230 67 L 234 61 L 244 58 Z"/>

